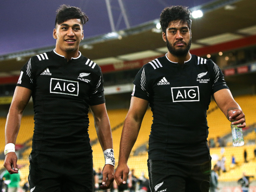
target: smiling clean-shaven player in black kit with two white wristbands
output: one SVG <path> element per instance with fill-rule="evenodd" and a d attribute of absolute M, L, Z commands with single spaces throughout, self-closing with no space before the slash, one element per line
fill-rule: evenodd
<path fill-rule="evenodd" d="M 87 21 L 80 8 L 61 5 L 53 30 L 56 48 L 32 56 L 20 71 L 5 127 L 4 167 L 11 174 L 18 173 L 15 142 L 32 95 L 31 192 L 93 191 L 89 108 L 105 157 L 100 188 L 110 188 L 114 180 L 113 141 L 101 68 L 78 50 Z"/>

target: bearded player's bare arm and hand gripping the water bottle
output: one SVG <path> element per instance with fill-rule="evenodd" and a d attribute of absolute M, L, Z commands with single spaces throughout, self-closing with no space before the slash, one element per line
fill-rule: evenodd
<path fill-rule="evenodd" d="M 215 92 L 212 96 L 227 119 L 229 121 L 236 121 L 232 123 L 233 125 L 241 123 L 241 125 L 237 125 L 237 127 L 245 127 L 245 115 L 240 106 L 234 100 L 229 89 L 221 89 Z M 233 114 L 233 112 L 235 113 Z"/>

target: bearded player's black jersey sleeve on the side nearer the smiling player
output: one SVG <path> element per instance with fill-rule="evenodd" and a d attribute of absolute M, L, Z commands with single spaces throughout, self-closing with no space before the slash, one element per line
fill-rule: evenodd
<path fill-rule="evenodd" d="M 147 69 L 144 65 L 135 76 L 133 81 L 134 87 L 132 91 L 132 96 L 145 99 L 149 101 L 149 91 L 148 91 L 149 75 Z"/>

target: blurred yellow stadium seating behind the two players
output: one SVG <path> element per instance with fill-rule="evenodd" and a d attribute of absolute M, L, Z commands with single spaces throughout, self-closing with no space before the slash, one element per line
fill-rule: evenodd
<path fill-rule="evenodd" d="M 256 123 L 256 118 L 254 116 L 254 111 L 256 108 L 256 96 L 252 95 L 245 95 L 236 97 L 235 100 L 240 104 L 241 108 L 243 109 L 246 115 L 246 124 L 251 125 Z M 128 109 L 115 109 L 115 110 L 108 110 L 110 125 L 113 129 L 113 148 L 114 154 L 116 157 L 116 163 L 118 162 L 119 156 L 119 144 L 121 139 L 121 133 L 123 128 L 123 123 L 125 117 L 127 115 Z M 104 157 L 102 153 L 101 146 L 98 142 L 98 137 L 96 130 L 94 128 L 94 119 L 91 113 L 88 114 L 90 119 L 90 127 L 89 127 L 89 135 L 91 141 L 94 141 L 93 144 L 93 161 L 94 161 L 94 168 L 97 170 L 99 167 L 103 167 L 104 165 Z M 142 146 L 147 145 L 148 138 L 150 135 L 150 129 L 152 124 L 152 112 L 150 109 L 147 110 L 143 122 L 142 127 L 140 128 L 140 132 L 138 135 L 138 139 L 132 149 L 132 153 L 128 160 L 128 166 L 130 169 L 135 169 L 135 176 L 140 177 L 141 173 L 144 172 L 145 176 L 148 176 L 147 170 L 147 158 L 148 154 L 146 151 L 144 153 L 140 153 L 137 156 L 134 156 L 134 151 Z M 209 137 L 217 139 L 218 136 L 222 137 L 227 133 L 230 133 L 230 122 L 226 119 L 225 115 L 221 112 L 221 110 L 217 107 L 216 103 L 212 101 L 209 106 L 209 110 L 207 112 L 207 121 L 209 128 Z M 0 118 L 0 131 L 4 133 L 6 118 Z M 22 118 L 22 123 L 20 126 L 19 135 L 17 138 L 17 144 L 22 144 L 28 147 L 23 153 L 22 157 L 24 159 L 19 159 L 18 163 L 21 165 L 20 173 L 22 177 L 21 184 L 25 183 L 29 174 L 29 161 L 28 157 L 31 152 L 31 145 L 32 141 L 31 138 L 33 136 L 33 129 L 34 129 L 34 120 L 33 116 L 24 116 Z M 245 140 L 254 140 L 255 139 L 255 132 L 251 132 L 246 135 L 244 138 Z M 0 134 L 0 151 L 1 153 L 4 150 L 4 134 Z M 226 158 L 226 173 L 221 173 L 219 178 L 220 181 L 235 181 L 241 177 L 242 172 L 246 172 L 248 175 L 253 175 L 256 169 L 256 159 L 254 157 L 253 150 L 256 148 L 256 145 L 245 145 L 242 147 L 215 147 L 210 148 L 210 153 L 212 156 L 212 166 L 217 163 L 217 158 L 221 158 L 222 155 Z M 247 160 L 248 163 L 244 163 L 244 149 L 247 151 Z M 231 166 L 231 156 L 234 154 L 237 165 L 235 167 Z M 0 161 L 1 167 L 3 165 L 3 160 Z M 117 165 L 117 164 L 116 164 Z M 0 168 L 1 168 L 0 167 Z M 256 175 L 255 175 L 256 176 Z"/>

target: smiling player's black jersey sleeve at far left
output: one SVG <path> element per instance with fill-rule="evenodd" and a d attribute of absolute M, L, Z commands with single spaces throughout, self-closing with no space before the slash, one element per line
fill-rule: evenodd
<path fill-rule="evenodd" d="M 20 76 L 19 76 L 17 86 L 26 87 L 27 89 L 33 90 L 34 68 L 35 67 L 33 64 L 33 58 L 31 57 L 20 70 Z"/>

